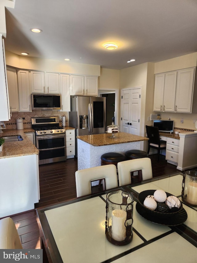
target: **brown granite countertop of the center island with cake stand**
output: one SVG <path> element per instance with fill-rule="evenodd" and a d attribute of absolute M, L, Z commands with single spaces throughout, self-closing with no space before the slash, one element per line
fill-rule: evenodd
<path fill-rule="evenodd" d="M 102 134 L 82 135 L 82 136 L 77 136 L 77 138 L 93 146 L 105 146 L 105 145 L 112 145 L 119 143 L 140 142 L 140 141 L 148 140 L 147 137 L 128 134 L 124 132 L 115 133 L 115 138 L 110 138 L 110 136 L 111 133 L 102 133 Z"/>

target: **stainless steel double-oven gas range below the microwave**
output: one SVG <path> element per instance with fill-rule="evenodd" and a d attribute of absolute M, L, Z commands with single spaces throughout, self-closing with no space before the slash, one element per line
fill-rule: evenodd
<path fill-rule="evenodd" d="M 59 126 L 59 117 L 31 118 L 35 130 L 39 164 L 66 160 L 66 129 Z"/>

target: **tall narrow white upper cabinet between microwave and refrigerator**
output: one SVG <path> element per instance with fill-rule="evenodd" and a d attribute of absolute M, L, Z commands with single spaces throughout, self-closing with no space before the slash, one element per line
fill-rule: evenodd
<path fill-rule="evenodd" d="M 68 74 L 60 74 L 61 111 L 70 111 L 70 81 Z"/>

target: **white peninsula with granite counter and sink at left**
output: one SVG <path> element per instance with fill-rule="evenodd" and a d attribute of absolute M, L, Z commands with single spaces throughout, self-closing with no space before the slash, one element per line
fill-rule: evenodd
<path fill-rule="evenodd" d="M 26 136 L 34 130 L 4 130 L 0 137 L 21 135 L 23 140 L 5 142 L 0 152 L 0 218 L 34 209 L 39 202 L 38 149 Z"/>

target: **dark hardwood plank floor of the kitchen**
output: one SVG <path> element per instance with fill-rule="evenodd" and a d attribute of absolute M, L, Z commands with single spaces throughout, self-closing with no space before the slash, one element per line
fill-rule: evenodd
<path fill-rule="evenodd" d="M 167 163 L 165 156 L 157 154 L 149 156 L 152 163 L 153 177 L 179 172 L 176 166 Z M 50 206 L 76 198 L 75 171 L 77 159 L 67 159 L 65 162 L 56 162 L 39 166 L 40 201 L 35 208 Z M 39 249 L 39 228 L 36 221 L 36 211 L 11 216 L 18 229 L 24 249 Z"/>

